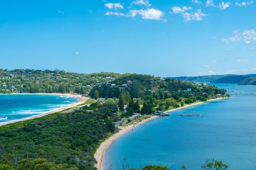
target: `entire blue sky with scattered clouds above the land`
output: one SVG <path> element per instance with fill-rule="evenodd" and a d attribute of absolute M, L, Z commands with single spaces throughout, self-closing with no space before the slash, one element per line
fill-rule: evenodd
<path fill-rule="evenodd" d="M 253 0 L 1 0 L 0 68 L 256 73 Z"/>

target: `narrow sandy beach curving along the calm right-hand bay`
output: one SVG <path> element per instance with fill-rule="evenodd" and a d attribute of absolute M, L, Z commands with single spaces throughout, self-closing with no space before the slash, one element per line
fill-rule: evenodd
<path fill-rule="evenodd" d="M 213 101 L 218 101 L 218 100 L 223 100 L 223 99 L 228 99 L 228 98 L 217 98 L 217 99 L 210 99 L 210 100 L 207 100 L 205 102 L 197 102 L 197 103 L 192 103 L 192 104 L 188 104 L 186 106 L 182 106 L 182 107 L 178 107 L 178 108 L 175 108 L 175 109 L 171 109 L 171 110 L 167 110 L 165 111 L 165 113 L 167 112 L 173 112 L 173 111 L 176 111 L 176 110 L 180 110 L 180 109 L 185 109 L 187 107 L 191 107 L 191 106 L 195 106 L 195 105 L 199 105 L 199 104 L 204 104 L 204 103 L 207 103 L 207 102 L 213 102 Z M 146 123 L 152 119 L 155 119 L 155 118 L 159 118 L 158 116 L 152 116 L 151 118 L 149 119 L 144 119 L 142 120 L 141 122 L 139 122 L 138 124 L 131 124 L 131 125 L 128 125 L 128 126 L 125 126 L 125 127 L 122 127 L 119 132 L 117 132 L 116 134 L 110 136 L 109 138 L 107 138 L 105 141 L 103 141 L 99 148 L 96 150 L 96 153 L 94 154 L 94 157 L 97 161 L 97 163 L 94 165 L 97 170 L 104 170 L 104 167 L 103 167 L 103 160 L 104 160 L 104 156 L 105 156 L 105 152 L 107 150 L 107 148 L 114 142 L 114 140 L 116 140 L 117 138 L 119 138 L 120 136 L 124 135 L 125 133 L 131 131 L 132 129 L 136 128 L 138 125 L 141 125 L 143 123 Z"/>

